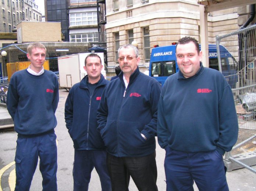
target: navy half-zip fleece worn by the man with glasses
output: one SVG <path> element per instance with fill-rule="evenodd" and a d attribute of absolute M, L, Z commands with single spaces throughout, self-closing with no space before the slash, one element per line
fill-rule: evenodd
<path fill-rule="evenodd" d="M 160 91 L 159 82 L 138 68 L 130 76 L 126 90 L 122 72 L 107 85 L 100 100 L 97 129 L 108 153 L 116 157 L 141 157 L 155 151 Z"/>

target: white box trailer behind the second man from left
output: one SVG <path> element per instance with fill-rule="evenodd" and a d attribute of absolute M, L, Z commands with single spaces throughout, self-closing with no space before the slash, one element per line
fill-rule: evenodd
<path fill-rule="evenodd" d="M 91 52 L 71 54 L 58 57 L 58 70 L 60 78 L 60 88 L 69 90 L 74 84 L 80 82 L 87 72 L 83 69 L 85 66 L 85 58 Z M 106 71 L 104 69 L 104 53 L 95 53 L 100 56 L 102 60 L 103 69 L 101 73 L 106 78 Z"/>

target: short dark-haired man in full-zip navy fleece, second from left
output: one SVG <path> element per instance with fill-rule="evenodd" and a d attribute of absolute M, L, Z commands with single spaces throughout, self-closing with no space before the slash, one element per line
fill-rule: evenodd
<path fill-rule="evenodd" d="M 87 191 L 90 176 L 95 167 L 100 177 L 102 191 L 111 191 L 106 166 L 106 148 L 97 132 L 97 107 L 101 95 L 109 83 L 100 74 L 102 61 L 97 54 L 85 58 L 83 67 L 87 75 L 75 84 L 65 103 L 65 121 L 74 142 L 73 166 L 74 191 Z"/>

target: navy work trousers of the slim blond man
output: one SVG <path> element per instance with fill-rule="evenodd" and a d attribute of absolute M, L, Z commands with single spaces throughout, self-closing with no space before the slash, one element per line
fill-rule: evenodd
<path fill-rule="evenodd" d="M 53 132 L 36 137 L 18 135 L 15 154 L 15 191 L 29 191 L 40 158 L 43 191 L 57 191 L 57 146 Z"/>

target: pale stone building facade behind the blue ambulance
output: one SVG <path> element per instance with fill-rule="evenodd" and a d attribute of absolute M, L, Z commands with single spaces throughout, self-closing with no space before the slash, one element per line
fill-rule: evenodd
<path fill-rule="evenodd" d="M 200 42 L 197 0 L 106 0 L 106 13 L 109 71 L 117 64 L 118 48 L 131 41 L 138 43 L 141 71 L 147 70 L 154 45 L 170 45 L 184 36 L 193 36 Z M 210 12 L 209 43 L 215 43 L 216 35 L 237 30 L 237 18 L 237 8 Z"/>

